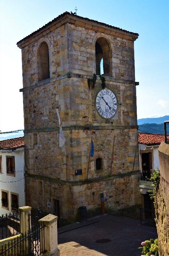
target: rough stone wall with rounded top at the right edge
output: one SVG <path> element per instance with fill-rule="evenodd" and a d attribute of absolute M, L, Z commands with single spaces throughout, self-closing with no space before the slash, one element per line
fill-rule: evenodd
<path fill-rule="evenodd" d="M 169 255 L 169 145 L 162 142 L 158 148 L 160 183 L 156 197 L 156 226 L 159 256 Z"/>

